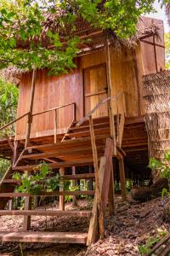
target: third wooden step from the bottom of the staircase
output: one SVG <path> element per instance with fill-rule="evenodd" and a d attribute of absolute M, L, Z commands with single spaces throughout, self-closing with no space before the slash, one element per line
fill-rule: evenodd
<path fill-rule="evenodd" d="M 44 192 L 40 195 L 32 195 L 28 193 L 0 193 L 0 197 L 13 198 L 24 196 L 58 196 L 58 195 L 94 195 L 95 191 L 56 191 L 56 192 Z"/>

